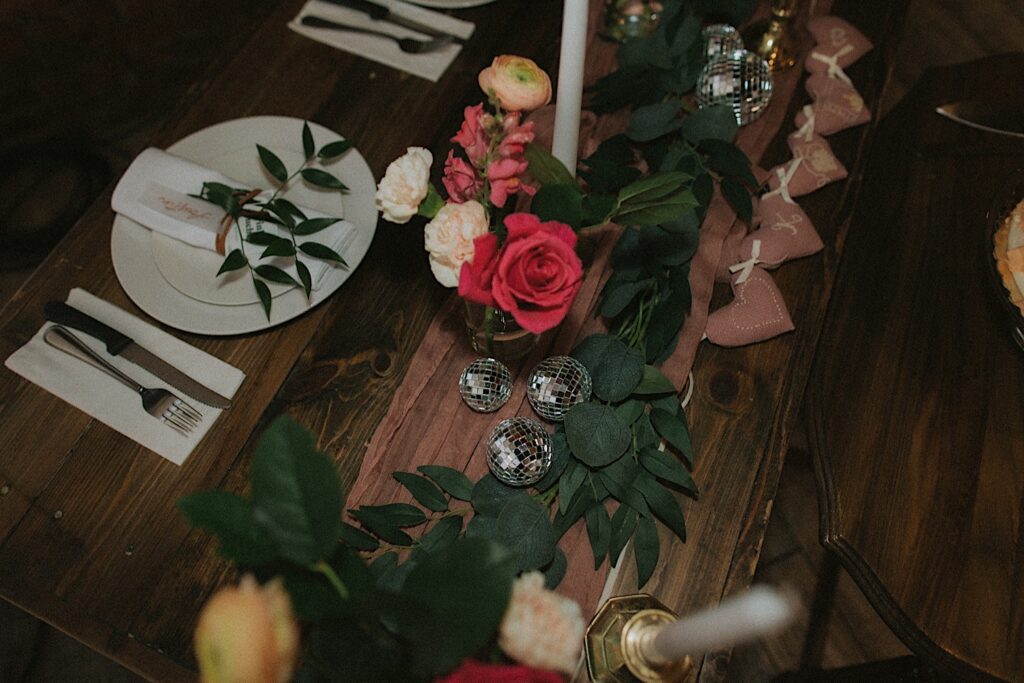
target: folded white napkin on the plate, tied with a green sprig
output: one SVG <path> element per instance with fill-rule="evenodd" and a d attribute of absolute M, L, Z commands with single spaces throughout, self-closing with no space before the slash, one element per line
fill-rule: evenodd
<path fill-rule="evenodd" d="M 204 182 L 219 182 L 229 187 L 247 186 L 187 159 L 150 147 L 135 158 L 118 181 L 111 197 L 111 208 L 151 230 L 194 247 L 226 254 L 241 245 L 251 263 L 275 265 L 298 280 L 293 259 L 270 257 L 260 260 L 259 255 L 265 247 L 241 242 L 233 225 L 226 232 L 223 231 L 221 219 L 224 213 L 220 207 L 189 197 L 200 194 Z M 269 191 L 260 195 L 261 198 L 269 196 Z M 299 208 L 309 218 L 323 218 L 326 215 L 305 207 Z M 287 233 L 280 225 L 258 218 L 243 217 L 239 222 L 246 236 L 259 230 L 281 237 Z M 318 242 L 341 253 L 354 233 L 351 223 L 340 220 L 319 232 L 299 238 L 298 241 L 300 244 Z M 303 258 L 303 262 L 309 267 L 315 289 L 331 263 L 310 257 Z"/>

